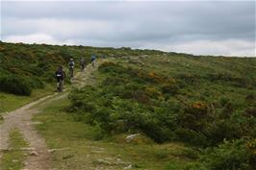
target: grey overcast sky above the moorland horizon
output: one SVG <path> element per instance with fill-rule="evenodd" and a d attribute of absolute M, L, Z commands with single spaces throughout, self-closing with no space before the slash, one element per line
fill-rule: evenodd
<path fill-rule="evenodd" d="M 255 57 L 255 1 L 1 1 L 1 40 Z"/>

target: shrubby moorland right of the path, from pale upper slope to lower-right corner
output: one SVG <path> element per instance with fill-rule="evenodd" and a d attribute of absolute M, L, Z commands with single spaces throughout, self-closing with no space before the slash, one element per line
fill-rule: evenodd
<path fill-rule="evenodd" d="M 106 61 L 97 85 L 71 92 L 67 112 L 102 139 L 140 133 L 198 150 L 187 157 L 194 163 L 169 158 L 167 169 L 255 169 L 255 66 L 175 54 Z"/>

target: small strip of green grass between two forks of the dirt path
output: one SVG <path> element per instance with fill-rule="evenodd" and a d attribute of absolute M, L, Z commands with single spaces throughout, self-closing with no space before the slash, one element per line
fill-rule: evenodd
<path fill-rule="evenodd" d="M 27 147 L 28 144 L 18 130 L 13 130 L 10 134 L 9 142 L 10 151 L 3 155 L 2 165 L 0 167 L 2 170 L 20 170 L 24 166 L 23 161 L 26 158 L 20 149 Z"/>

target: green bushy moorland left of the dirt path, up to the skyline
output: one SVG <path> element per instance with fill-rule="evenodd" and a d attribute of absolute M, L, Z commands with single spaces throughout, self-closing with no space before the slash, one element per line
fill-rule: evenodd
<path fill-rule="evenodd" d="M 98 58 L 141 54 L 141 50 L 131 51 L 129 54 L 127 50 L 130 51 L 129 48 L 29 45 L 0 41 L 0 112 L 16 109 L 52 93 L 55 90 L 55 70 L 59 65 L 64 65 L 67 72 L 70 58 L 78 63 L 81 57 L 89 62 L 92 53 Z M 149 53 L 161 52 L 145 52 Z"/>

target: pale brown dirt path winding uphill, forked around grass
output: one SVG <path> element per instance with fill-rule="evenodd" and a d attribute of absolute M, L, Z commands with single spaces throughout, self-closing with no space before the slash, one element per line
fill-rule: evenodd
<path fill-rule="evenodd" d="M 87 66 L 85 72 L 80 72 L 73 81 L 73 85 L 81 87 L 87 84 L 87 80 L 91 77 L 91 73 L 96 68 L 91 65 Z M 38 104 L 58 100 L 68 94 L 67 91 L 61 95 L 54 93 L 52 95 L 43 97 L 35 102 L 32 102 L 20 109 L 15 109 L 4 116 L 4 123 L 0 125 L 0 160 L 4 151 L 9 149 L 9 134 L 13 129 L 18 129 L 28 141 L 30 147 L 28 158 L 25 161 L 24 170 L 49 170 L 51 168 L 50 153 L 47 150 L 44 139 L 38 134 L 34 128 L 34 124 L 39 122 L 32 122 L 32 115 L 38 110 L 33 108 Z M 1 162 L 0 162 L 1 163 Z M 1 168 L 1 167 L 0 167 Z"/>

